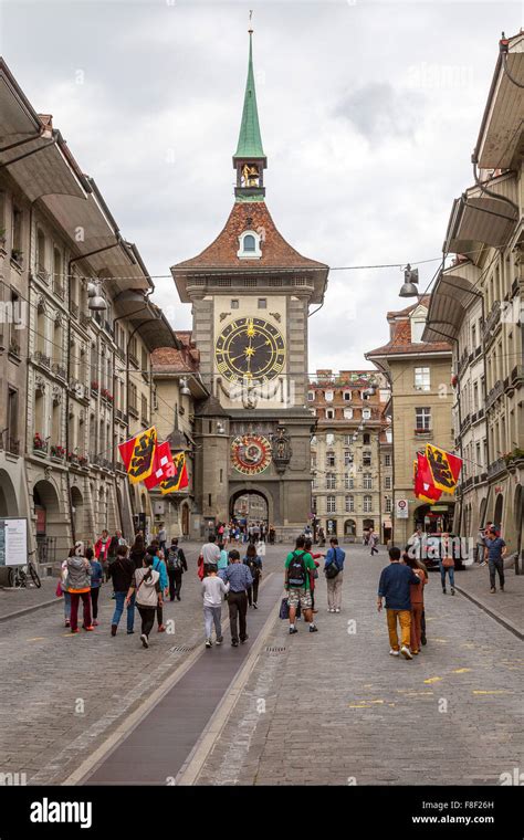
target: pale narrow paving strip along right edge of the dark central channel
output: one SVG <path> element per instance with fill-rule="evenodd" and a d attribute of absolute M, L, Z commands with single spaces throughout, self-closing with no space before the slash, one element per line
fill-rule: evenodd
<path fill-rule="evenodd" d="M 268 575 L 265 578 L 265 582 L 268 582 L 268 580 L 274 574 L 276 573 L 270 573 L 270 575 Z M 275 601 L 275 606 L 279 603 L 281 597 L 282 596 L 279 595 L 279 598 Z M 185 787 L 195 785 L 209 754 L 211 753 L 217 741 L 220 738 L 220 735 L 222 734 L 223 728 L 228 723 L 228 720 L 230 718 L 234 706 L 237 705 L 237 701 L 241 696 L 243 689 L 256 662 L 259 661 L 259 654 L 262 648 L 265 645 L 271 630 L 277 621 L 279 612 L 272 607 L 249 655 L 245 659 L 244 664 L 242 665 L 240 672 L 237 672 L 237 675 L 233 678 L 229 689 L 224 692 L 224 695 L 219 706 L 217 707 L 217 711 L 209 720 L 208 725 L 205 727 L 203 732 L 201 733 L 200 737 L 198 738 L 197 743 L 195 744 L 193 748 L 178 771 L 175 778 L 175 785 L 182 785 Z"/>

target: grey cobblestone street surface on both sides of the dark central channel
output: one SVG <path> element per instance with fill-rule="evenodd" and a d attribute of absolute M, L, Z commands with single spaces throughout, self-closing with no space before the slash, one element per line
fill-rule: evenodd
<path fill-rule="evenodd" d="M 280 574 L 282 553 L 269 549 L 266 573 Z M 182 601 L 166 609 L 175 633 L 155 636 L 149 651 L 138 634 L 109 636 L 108 589 L 94 633 L 67 633 L 59 605 L 2 624 L 2 771 L 25 771 L 29 784 L 62 783 L 198 652 L 196 557 L 190 547 Z M 321 632 L 310 636 L 301 627 L 290 638 L 284 622 L 270 621 L 251 675 L 202 756 L 197 784 L 490 785 L 524 766 L 522 642 L 461 596 L 442 596 L 431 575 L 429 643 L 412 662 L 394 660 L 385 617 L 375 611 L 385 561 L 384 549 L 371 559 L 350 547 L 340 615 L 325 611 L 319 581 Z M 279 597 L 271 586 L 274 616 Z M 221 653 L 231 651 L 202 645 L 202 659 Z M 197 664 L 201 669 L 201 659 Z M 129 781 L 143 758 L 129 756 Z"/>

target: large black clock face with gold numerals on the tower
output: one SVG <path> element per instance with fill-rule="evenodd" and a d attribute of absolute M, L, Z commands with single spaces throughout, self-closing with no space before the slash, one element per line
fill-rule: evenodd
<path fill-rule="evenodd" d="M 263 318 L 237 318 L 217 338 L 214 357 L 230 382 L 269 381 L 284 368 L 285 344 L 280 330 Z"/>

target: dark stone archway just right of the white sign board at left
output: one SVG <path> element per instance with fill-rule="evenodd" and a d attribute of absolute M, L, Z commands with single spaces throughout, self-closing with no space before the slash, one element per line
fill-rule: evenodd
<path fill-rule="evenodd" d="M 67 515 L 61 510 L 59 492 L 49 479 L 33 487 L 36 555 L 39 563 L 55 563 L 67 556 Z"/>

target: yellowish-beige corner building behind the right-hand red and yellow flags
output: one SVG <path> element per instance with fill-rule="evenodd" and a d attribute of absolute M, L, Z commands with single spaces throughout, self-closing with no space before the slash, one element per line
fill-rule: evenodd
<path fill-rule="evenodd" d="M 451 428 L 453 391 L 451 346 L 444 340 L 426 342 L 422 334 L 429 296 L 400 312 L 388 313 L 389 342 L 366 353 L 380 370 L 391 390 L 386 416 L 390 419 L 392 441 L 391 538 L 401 546 L 418 525 L 427 531 L 451 528 L 454 498 L 442 494 L 438 504 L 421 503 L 413 494 L 413 460 L 426 443 L 454 451 Z M 384 449 L 386 460 L 388 449 Z"/>

